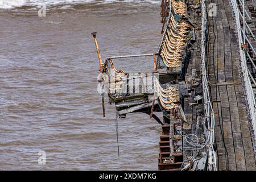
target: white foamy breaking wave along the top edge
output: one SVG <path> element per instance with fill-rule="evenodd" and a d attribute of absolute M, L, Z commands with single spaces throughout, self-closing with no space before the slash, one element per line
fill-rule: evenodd
<path fill-rule="evenodd" d="M 110 4 L 110 3 L 141 3 L 157 4 L 158 0 L 0 0 L 0 9 L 15 9 L 16 7 L 46 5 L 49 7 L 61 6 L 60 8 L 70 8 L 72 5 L 85 3 Z"/>

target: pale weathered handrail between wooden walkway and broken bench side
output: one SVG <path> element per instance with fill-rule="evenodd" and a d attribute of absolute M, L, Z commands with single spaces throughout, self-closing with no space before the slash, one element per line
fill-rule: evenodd
<path fill-rule="evenodd" d="M 205 0 L 201 1 L 201 13 L 202 13 L 202 28 L 201 28 L 201 57 L 202 57 L 202 83 L 203 83 L 203 95 L 204 95 L 204 110 L 205 117 L 208 123 L 208 135 L 209 135 L 209 145 L 208 145 L 208 167 L 209 170 L 217 171 L 217 158 L 216 152 L 214 151 L 214 111 L 212 107 L 212 101 L 210 100 L 210 94 L 208 90 L 208 80 L 207 80 L 207 70 L 205 66 L 206 60 L 206 44 L 207 44 L 207 11 Z"/>

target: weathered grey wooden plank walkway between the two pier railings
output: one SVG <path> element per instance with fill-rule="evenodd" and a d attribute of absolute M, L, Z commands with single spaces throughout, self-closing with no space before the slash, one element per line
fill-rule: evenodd
<path fill-rule="evenodd" d="M 231 8 L 226 0 L 207 0 L 207 7 L 210 3 L 217 5 L 217 16 L 208 15 L 207 67 L 216 122 L 218 169 L 255 170 Z"/>

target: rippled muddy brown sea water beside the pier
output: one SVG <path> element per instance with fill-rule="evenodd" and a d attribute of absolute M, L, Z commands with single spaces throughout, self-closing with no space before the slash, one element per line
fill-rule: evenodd
<path fill-rule="evenodd" d="M 90 33 L 98 32 L 102 57 L 155 52 L 159 6 L 87 3 L 48 8 L 46 17 L 26 6 L 0 10 L 0 169 L 158 169 L 160 126 L 148 115 L 118 119 L 118 157 L 115 110 L 106 103 L 102 118 Z"/>

